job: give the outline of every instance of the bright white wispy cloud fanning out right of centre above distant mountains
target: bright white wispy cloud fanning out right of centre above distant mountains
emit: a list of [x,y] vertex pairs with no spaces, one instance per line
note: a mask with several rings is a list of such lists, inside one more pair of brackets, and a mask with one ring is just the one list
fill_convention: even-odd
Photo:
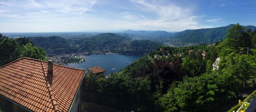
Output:
[[[198,20],[201,16],[193,14],[192,7],[182,7],[175,3],[162,4],[160,2],[148,3],[144,0],[131,0],[137,4],[137,8],[146,14],[153,14],[154,17],[142,15],[144,20],[137,21],[140,25],[151,26],[152,28],[164,28],[168,31],[180,31],[184,28],[200,28]],[[171,26],[171,27],[170,27]]]

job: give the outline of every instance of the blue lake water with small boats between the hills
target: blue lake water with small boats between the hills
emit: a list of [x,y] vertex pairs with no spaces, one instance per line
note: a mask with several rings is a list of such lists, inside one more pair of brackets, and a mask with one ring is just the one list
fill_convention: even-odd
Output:
[[[89,67],[99,66],[106,70],[105,75],[113,72],[116,73],[129,64],[127,62],[134,62],[142,58],[143,55],[122,55],[122,54],[98,54],[85,56],[86,61],[78,63],[76,68],[87,70]],[[131,64],[131,63],[130,63]],[[66,66],[70,66],[67,64]],[[113,70],[111,70],[113,69]],[[88,71],[87,71],[88,72]]]

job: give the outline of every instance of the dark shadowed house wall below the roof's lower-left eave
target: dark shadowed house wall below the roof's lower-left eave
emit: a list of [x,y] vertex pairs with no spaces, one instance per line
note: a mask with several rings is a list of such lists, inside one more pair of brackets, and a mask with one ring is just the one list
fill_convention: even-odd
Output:
[[27,109],[24,109],[20,105],[17,105],[13,103],[12,101],[9,101],[8,99],[4,98],[0,95],[0,108],[3,110],[3,112],[30,112]]

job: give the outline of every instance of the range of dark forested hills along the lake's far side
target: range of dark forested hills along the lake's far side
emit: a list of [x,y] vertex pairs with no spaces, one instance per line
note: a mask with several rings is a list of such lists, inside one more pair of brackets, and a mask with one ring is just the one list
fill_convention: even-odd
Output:
[[131,40],[129,36],[113,33],[97,34],[86,38],[64,39],[59,36],[30,37],[36,46],[47,53],[77,53],[98,51],[102,53],[146,54],[162,43],[150,40]]

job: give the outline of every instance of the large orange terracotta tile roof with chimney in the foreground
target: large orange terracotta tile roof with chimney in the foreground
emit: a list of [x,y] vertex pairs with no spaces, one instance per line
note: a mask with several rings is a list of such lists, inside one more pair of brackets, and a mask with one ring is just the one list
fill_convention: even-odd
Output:
[[67,112],[84,70],[53,64],[51,78],[47,67],[47,62],[30,58],[0,67],[0,95],[35,112]]

